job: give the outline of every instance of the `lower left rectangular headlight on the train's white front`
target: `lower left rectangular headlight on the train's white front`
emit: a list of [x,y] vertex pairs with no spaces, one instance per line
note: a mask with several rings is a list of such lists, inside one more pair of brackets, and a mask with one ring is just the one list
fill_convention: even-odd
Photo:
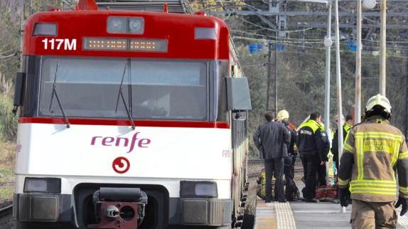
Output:
[[24,193],[61,193],[61,179],[52,177],[26,177]]

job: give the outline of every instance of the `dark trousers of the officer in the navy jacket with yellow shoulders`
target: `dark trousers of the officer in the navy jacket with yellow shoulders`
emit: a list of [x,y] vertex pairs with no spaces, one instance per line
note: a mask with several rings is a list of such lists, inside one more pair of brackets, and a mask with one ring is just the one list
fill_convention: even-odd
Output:
[[306,165],[306,187],[304,188],[304,198],[311,199],[316,195],[316,173],[320,166],[318,156],[306,154],[302,156],[302,161]]

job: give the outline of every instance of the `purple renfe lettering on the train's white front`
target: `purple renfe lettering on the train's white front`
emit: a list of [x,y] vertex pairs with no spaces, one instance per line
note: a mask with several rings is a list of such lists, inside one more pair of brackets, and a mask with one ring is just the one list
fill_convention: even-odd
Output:
[[138,139],[137,138],[138,134],[140,134],[140,132],[136,132],[133,134],[133,137],[131,137],[131,140],[130,140],[130,146],[129,146],[129,139],[127,137],[102,137],[102,136],[92,137],[91,145],[95,146],[95,144],[102,144],[102,146],[104,147],[128,147],[129,146],[129,151],[127,151],[127,153],[130,153],[131,151],[133,151],[134,147],[136,146],[136,140],[137,140],[137,147],[139,148],[149,147],[151,140],[150,139]]

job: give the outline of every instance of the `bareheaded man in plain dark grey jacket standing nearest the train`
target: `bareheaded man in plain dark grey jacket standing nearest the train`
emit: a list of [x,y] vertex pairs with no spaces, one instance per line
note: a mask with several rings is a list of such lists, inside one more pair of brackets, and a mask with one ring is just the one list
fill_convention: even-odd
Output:
[[287,146],[290,144],[291,134],[279,122],[272,122],[274,113],[265,114],[267,122],[260,125],[254,134],[254,144],[259,150],[265,164],[265,202],[272,201],[272,175],[275,177],[275,201],[285,202],[284,198],[284,158],[288,156]]

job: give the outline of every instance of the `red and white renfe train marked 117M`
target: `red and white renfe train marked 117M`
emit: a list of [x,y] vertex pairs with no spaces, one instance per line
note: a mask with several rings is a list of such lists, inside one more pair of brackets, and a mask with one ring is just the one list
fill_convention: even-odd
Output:
[[220,18],[81,0],[24,33],[17,228],[238,225],[251,105]]

